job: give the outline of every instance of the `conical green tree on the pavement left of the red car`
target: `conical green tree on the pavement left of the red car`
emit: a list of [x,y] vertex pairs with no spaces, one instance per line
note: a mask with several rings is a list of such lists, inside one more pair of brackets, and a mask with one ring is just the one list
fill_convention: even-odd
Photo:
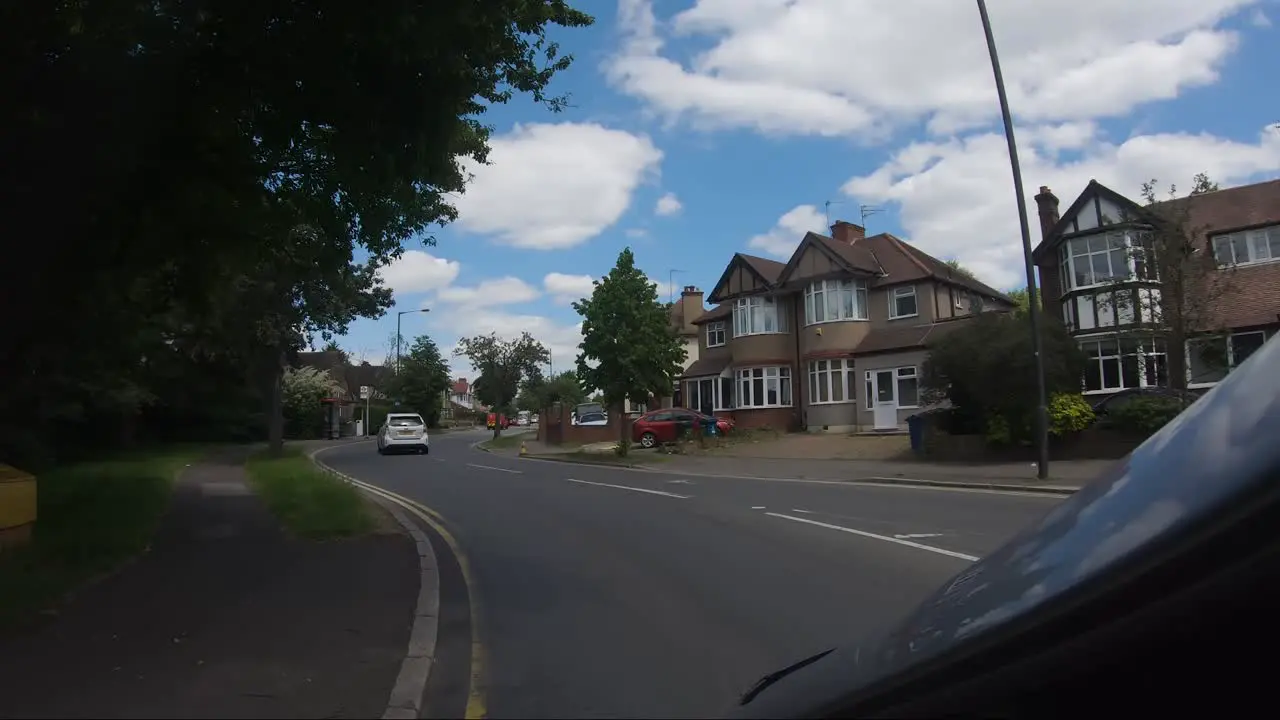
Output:
[[[636,268],[630,247],[618,254],[609,274],[595,282],[591,297],[573,302],[573,310],[582,316],[577,375],[586,388],[603,392],[618,410],[625,400],[645,404],[653,395],[671,393],[685,348],[658,299],[658,286]],[[631,428],[621,413],[618,416],[618,452],[626,455]]]

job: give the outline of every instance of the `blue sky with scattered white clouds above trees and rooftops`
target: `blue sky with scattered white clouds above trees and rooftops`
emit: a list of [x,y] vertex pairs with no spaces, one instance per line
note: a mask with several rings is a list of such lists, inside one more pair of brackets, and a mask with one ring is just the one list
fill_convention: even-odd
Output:
[[[1028,199],[1091,179],[1137,193],[1280,176],[1277,0],[989,0]],[[630,246],[668,296],[707,292],[733,252],[786,259],[831,219],[892,232],[1020,287],[1016,208],[972,3],[579,0],[588,29],[554,83],[572,106],[494,108],[492,163],[435,246],[388,268],[397,307],[339,343],[379,363],[403,334],[527,329],[557,369],[576,354],[570,301]],[[1032,210],[1034,218],[1034,209]],[[1033,240],[1037,233],[1033,231]],[[471,375],[466,361],[458,374]]]

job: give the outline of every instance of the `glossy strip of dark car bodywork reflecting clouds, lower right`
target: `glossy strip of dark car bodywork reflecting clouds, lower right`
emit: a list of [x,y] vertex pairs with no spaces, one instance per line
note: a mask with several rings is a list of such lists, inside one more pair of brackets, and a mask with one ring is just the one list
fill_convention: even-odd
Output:
[[[765,678],[767,687],[753,688],[732,716],[820,716],[858,688],[959,650],[1103,574],[1126,571],[1160,541],[1242,501],[1268,482],[1270,468],[1280,466],[1275,368],[1280,342],[1271,341],[1128,457],[938,588],[897,626]],[[808,698],[809,706],[797,707],[797,698]]]

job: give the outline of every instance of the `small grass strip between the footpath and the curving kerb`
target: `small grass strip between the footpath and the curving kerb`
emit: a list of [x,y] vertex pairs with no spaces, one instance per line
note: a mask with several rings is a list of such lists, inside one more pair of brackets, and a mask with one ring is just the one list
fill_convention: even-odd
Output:
[[360,491],[316,468],[301,450],[285,447],[280,457],[257,454],[247,469],[259,497],[294,536],[328,539],[374,528]]

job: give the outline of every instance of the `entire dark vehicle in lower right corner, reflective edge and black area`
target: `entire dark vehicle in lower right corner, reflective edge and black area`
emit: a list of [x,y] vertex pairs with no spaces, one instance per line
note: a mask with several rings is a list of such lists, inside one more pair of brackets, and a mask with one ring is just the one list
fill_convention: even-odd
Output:
[[[733,717],[1231,716],[1275,702],[1280,342],[879,638]],[[832,568],[838,573],[838,568]]]

